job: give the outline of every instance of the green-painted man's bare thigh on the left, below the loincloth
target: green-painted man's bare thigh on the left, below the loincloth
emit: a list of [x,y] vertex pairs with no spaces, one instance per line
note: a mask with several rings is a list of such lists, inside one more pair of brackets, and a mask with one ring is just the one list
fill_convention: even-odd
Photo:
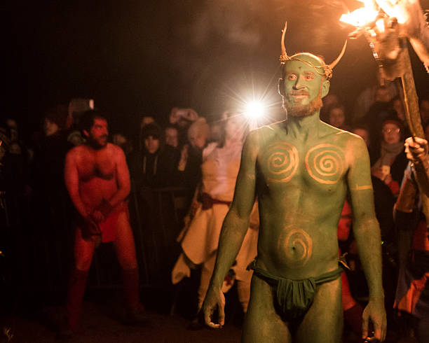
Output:
[[250,302],[245,315],[242,343],[292,342],[287,323],[282,321],[273,306],[273,290],[268,283],[252,277]]

